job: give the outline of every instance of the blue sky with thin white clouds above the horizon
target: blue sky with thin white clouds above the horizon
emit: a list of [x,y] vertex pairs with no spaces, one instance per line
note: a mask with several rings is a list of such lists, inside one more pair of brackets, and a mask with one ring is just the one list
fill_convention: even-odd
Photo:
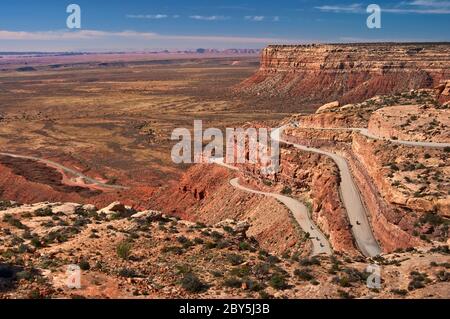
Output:
[[[80,30],[66,26],[81,7]],[[382,8],[369,29],[366,7]],[[260,48],[271,43],[450,41],[450,1],[2,0],[0,51]]]

